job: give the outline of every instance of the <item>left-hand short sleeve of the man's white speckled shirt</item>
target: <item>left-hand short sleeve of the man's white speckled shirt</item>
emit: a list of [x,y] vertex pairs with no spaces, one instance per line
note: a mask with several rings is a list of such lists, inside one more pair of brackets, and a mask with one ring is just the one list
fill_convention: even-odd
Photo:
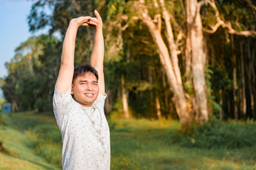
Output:
[[63,119],[65,117],[65,108],[68,106],[69,103],[71,103],[72,96],[70,94],[71,87],[68,89],[68,91],[65,92],[65,94],[61,94],[58,89],[54,90],[53,94],[53,112],[57,121],[57,124],[60,127],[62,127]]

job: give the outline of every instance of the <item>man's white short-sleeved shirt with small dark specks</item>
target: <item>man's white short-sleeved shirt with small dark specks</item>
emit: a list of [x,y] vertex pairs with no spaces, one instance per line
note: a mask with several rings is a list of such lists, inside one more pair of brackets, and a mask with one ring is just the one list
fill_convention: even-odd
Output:
[[92,107],[84,107],[56,88],[53,111],[63,140],[63,169],[110,169],[110,129],[104,113],[107,95],[99,93]]

